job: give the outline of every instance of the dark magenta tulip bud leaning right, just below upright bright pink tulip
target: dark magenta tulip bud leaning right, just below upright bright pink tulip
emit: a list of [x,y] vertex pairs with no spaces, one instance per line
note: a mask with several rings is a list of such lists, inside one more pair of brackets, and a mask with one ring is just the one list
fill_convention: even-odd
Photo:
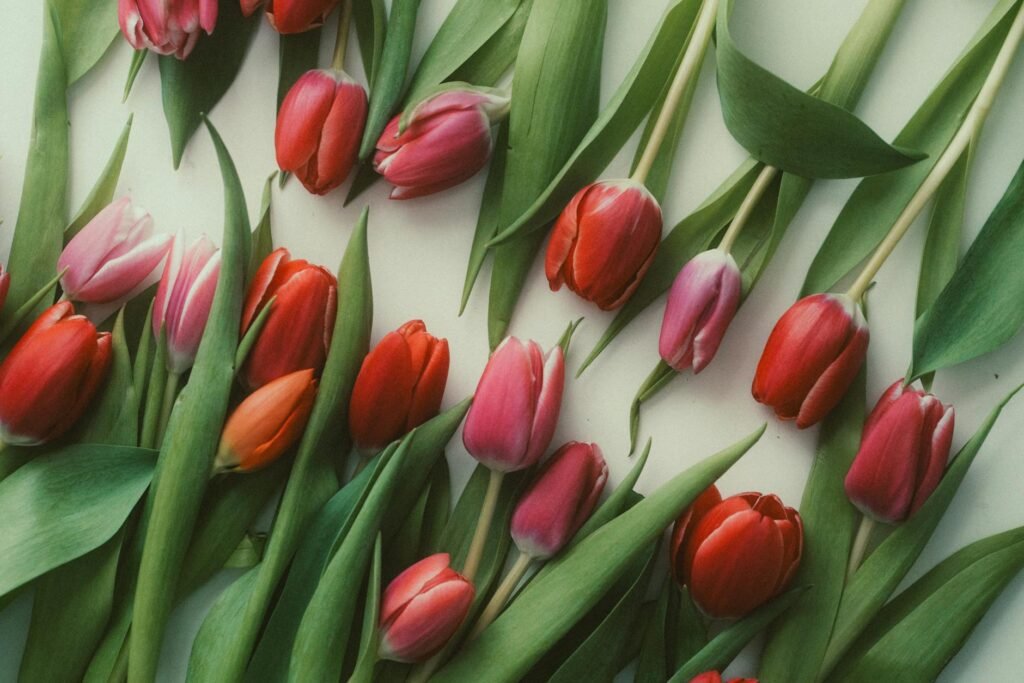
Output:
[[535,559],[556,555],[590,517],[607,480],[608,466],[596,443],[560,447],[512,514],[516,547]]

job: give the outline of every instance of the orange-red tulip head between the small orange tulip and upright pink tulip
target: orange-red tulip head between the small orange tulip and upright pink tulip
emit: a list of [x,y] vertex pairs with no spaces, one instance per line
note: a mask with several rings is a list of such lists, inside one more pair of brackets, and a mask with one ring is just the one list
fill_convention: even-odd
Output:
[[437,415],[447,383],[446,339],[422,321],[390,332],[362,360],[349,401],[349,432],[364,451],[379,451]]

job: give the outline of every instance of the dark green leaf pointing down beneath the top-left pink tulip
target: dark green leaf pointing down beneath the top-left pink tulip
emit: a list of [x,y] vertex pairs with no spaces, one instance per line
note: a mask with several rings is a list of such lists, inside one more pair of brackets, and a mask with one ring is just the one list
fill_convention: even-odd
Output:
[[254,12],[245,17],[238,2],[219,0],[217,31],[201,35],[187,59],[160,56],[164,118],[175,169],[181,165],[185,146],[203,117],[213,111],[239,75],[261,15]]

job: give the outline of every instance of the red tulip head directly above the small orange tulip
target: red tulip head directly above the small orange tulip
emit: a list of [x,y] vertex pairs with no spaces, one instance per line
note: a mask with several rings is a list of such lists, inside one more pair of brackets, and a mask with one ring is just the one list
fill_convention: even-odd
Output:
[[297,370],[319,375],[338,311],[338,280],[323,266],[292,259],[282,247],[253,276],[242,310],[243,334],[270,299],[273,305],[242,369],[249,390]]

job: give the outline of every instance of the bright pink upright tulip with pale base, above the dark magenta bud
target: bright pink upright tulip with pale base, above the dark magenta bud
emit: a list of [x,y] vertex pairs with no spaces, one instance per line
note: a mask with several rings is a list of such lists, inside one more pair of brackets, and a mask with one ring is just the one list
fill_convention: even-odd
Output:
[[499,472],[530,467],[551,443],[564,384],[560,347],[545,357],[537,342],[507,337],[476,385],[462,432],[466,450]]

